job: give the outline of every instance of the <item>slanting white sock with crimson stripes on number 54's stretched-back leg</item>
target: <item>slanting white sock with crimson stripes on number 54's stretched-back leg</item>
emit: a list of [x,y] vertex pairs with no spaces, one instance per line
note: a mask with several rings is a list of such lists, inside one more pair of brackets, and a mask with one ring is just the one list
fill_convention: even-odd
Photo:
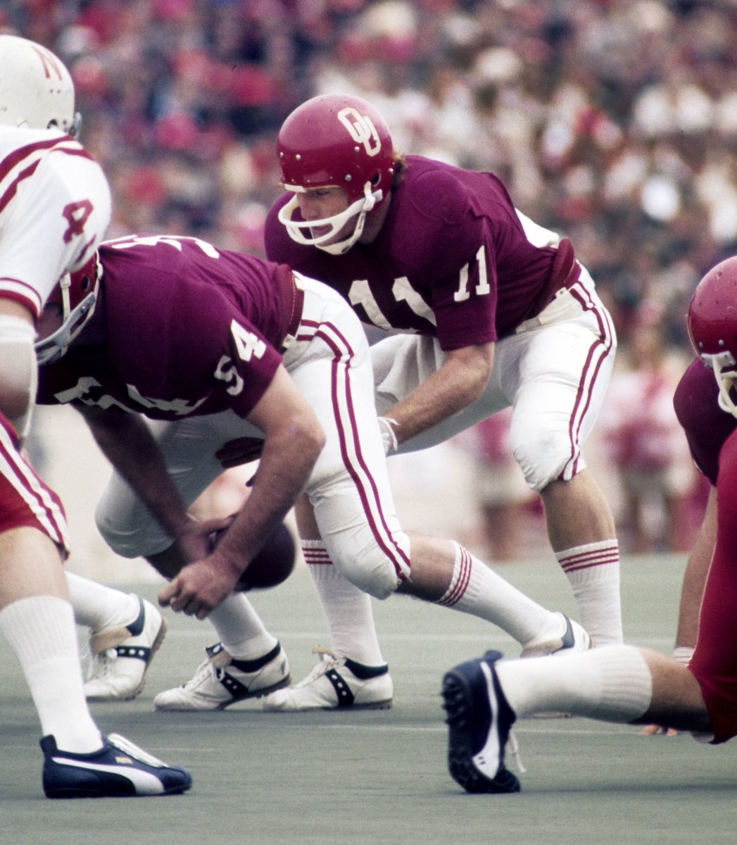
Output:
[[563,634],[565,620],[560,613],[533,602],[457,542],[453,548],[453,577],[437,604],[486,619],[523,647]]

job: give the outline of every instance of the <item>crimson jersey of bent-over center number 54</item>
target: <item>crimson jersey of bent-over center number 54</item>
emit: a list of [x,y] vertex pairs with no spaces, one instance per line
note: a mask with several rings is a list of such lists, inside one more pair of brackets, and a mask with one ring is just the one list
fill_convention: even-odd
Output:
[[38,401],[119,406],[154,419],[245,417],[281,363],[286,267],[186,237],[103,243],[101,300],[79,341],[41,368]]

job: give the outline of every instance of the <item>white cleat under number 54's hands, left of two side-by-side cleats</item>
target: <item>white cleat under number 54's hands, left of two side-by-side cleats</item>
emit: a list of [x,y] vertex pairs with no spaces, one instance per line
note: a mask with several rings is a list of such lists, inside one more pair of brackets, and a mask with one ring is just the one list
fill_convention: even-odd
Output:
[[192,679],[156,695],[156,710],[224,710],[236,701],[279,690],[291,680],[287,655],[278,642],[268,654],[253,660],[232,657],[221,643],[206,648],[205,654],[207,659]]

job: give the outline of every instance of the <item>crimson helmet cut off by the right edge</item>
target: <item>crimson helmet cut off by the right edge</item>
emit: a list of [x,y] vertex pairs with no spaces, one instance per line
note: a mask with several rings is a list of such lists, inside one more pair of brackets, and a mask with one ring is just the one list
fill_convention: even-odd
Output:
[[737,379],[737,258],[726,259],[699,282],[688,308],[691,344],[719,385],[719,406],[737,417],[731,389]]

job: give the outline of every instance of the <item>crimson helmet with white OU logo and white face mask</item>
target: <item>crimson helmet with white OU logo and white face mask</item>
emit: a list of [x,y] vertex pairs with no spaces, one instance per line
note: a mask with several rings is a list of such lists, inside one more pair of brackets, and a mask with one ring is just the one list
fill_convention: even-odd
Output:
[[[325,94],[298,106],[284,121],[276,139],[281,182],[287,191],[303,194],[310,188],[344,188],[348,208],[317,221],[292,219],[298,208],[293,197],[279,212],[292,240],[340,255],[363,232],[369,211],[389,195],[394,176],[394,148],[384,118],[369,102],[347,94]],[[326,244],[352,217],[353,231],[339,243]],[[330,226],[312,237],[313,226]]]

